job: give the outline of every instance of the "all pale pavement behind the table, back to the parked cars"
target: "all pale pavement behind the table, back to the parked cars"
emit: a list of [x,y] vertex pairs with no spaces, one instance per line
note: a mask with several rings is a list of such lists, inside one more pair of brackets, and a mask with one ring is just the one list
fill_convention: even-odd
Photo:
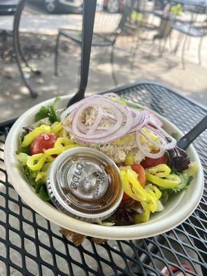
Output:
[[[110,14],[106,14],[111,25]],[[119,14],[113,17],[113,23],[119,20]],[[98,21],[98,19],[97,19]],[[95,24],[97,30],[98,24]],[[24,38],[23,42],[27,48],[37,47],[50,34],[48,52],[40,59],[32,60],[34,66],[41,70],[40,77],[32,77],[27,74],[32,88],[39,92],[37,99],[31,99],[28,90],[23,86],[16,64],[0,61],[0,121],[17,117],[25,110],[45,99],[59,95],[73,94],[77,90],[78,66],[80,49],[72,45],[70,41],[62,41],[59,57],[60,77],[54,76],[54,55],[55,38],[58,28],[81,28],[81,15],[79,14],[31,14],[30,10],[24,12],[21,21],[21,32],[30,33],[30,37]],[[0,29],[11,30],[12,17],[3,17],[0,22]],[[35,45],[35,37],[43,35],[42,41]],[[44,33],[44,34],[43,34]],[[47,34],[47,35],[46,35]],[[51,38],[52,37],[52,38]],[[177,33],[173,32],[172,44],[175,43]],[[114,70],[118,86],[143,79],[161,81],[180,90],[188,97],[196,99],[207,105],[207,38],[203,41],[201,52],[202,64],[199,66],[197,60],[198,40],[190,40],[190,49],[186,52],[186,69],[181,68],[181,52],[177,55],[170,53],[168,47],[162,56],[157,52],[156,43],[150,41],[139,41],[139,47],[135,58],[132,60],[132,37],[120,37],[115,48]],[[168,43],[167,43],[168,46]],[[47,44],[46,44],[47,47]],[[111,77],[110,52],[103,49],[92,49],[90,73],[88,81],[88,93],[102,92],[115,88]]]

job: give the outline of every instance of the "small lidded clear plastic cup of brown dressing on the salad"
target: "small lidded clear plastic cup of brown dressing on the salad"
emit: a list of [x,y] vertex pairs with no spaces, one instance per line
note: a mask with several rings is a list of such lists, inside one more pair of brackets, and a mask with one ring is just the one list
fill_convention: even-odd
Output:
[[123,197],[119,168],[92,148],[72,148],[53,162],[47,183],[57,208],[86,221],[106,219]]

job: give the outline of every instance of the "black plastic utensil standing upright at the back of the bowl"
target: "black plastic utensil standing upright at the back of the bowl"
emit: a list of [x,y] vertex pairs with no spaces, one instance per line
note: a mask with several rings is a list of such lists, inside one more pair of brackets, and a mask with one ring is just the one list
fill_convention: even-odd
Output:
[[92,46],[92,33],[95,21],[95,10],[97,0],[83,1],[83,22],[82,22],[82,46],[81,46],[81,80],[78,92],[70,99],[68,106],[84,98],[88,83],[88,70],[90,64],[90,51]]

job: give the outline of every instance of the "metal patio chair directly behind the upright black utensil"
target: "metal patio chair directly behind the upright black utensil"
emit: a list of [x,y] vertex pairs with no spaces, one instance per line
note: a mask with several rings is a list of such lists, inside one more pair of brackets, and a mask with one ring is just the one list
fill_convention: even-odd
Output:
[[[117,37],[124,28],[124,23],[128,17],[130,8],[125,7],[122,14],[120,14],[119,20],[117,21],[117,26],[112,22],[110,30],[106,30],[108,26],[108,21],[115,19],[119,16],[118,14],[108,14],[106,12],[96,12],[95,17],[95,32],[93,33],[92,38],[92,47],[110,47],[110,63],[112,66],[112,79],[117,85],[115,78],[115,73],[113,71],[113,61],[114,61],[114,47]],[[70,39],[73,43],[77,43],[78,46],[81,46],[81,31],[80,30],[70,30],[70,29],[59,29],[57,35],[57,42],[55,46],[55,75],[58,76],[58,57],[59,57],[59,42],[61,37],[66,37]]]

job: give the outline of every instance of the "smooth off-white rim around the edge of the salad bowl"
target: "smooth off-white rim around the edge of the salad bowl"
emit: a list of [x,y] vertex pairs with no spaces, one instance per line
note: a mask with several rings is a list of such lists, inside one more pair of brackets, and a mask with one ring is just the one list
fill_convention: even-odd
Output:
[[[159,221],[159,224],[157,224],[157,222],[155,221],[155,224],[150,225],[150,227],[146,227],[148,222],[131,226],[100,226],[98,224],[92,224],[78,219],[74,219],[66,214],[61,213],[61,211],[57,208],[41,200],[38,197],[38,195],[35,194],[34,189],[28,183],[26,177],[23,176],[23,173],[20,169],[14,152],[17,150],[17,148],[15,148],[15,145],[17,145],[19,132],[22,128],[22,124],[23,121],[25,121],[25,118],[29,115],[34,115],[34,112],[37,112],[37,110],[41,106],[48,105],[48,103],[51,103],[52,101],[54,101],[54,99],[49,99],[41,103],[38,103],[36,106],[33,106],[32,108],[24,112],[23,115],[21,115],[21,117],[17,119],[17,121],[10,129],[5,143],[4,160],[10,182],[12,183],[12,186],[17,191],[17,193],[20,195],[21,199],[23,199],[23,201],[25,201],[26,204],[28,204],[28,206],[30,206],[30,208],[32,208],[36,213],[42,215],[49,221],[52,221],[53,223],[63,228],[72,230],[82,235],[88,235],[90,237],[99,237],[102,239],[118,240],[143,239],[146,237],[152,237],[155,235],[159,235],[161,233],[165,233],[168,230],[175,228],[183,221],[185,221],[197,208],[204,190],[204,172],[197,152],[195,151],[195,148],[192,145],[190,145],[189,150],[190,155],[193,155],[194,161],[196,161],[198,164],[197,185],[199,184],[199,188],[196,189],[197,193],[194,194],[193,201],[191,202],[190,206],[188,205],[188,208],[181,208],[179,210],[179,214],[177,214],[177,216],[174,216],[173,219],[171,216],[166,216],[164,217],[164,219],[161,219],[161,221]],[[61,97],[61,101],[65,101],[66,99],[70,99],[70,96]],[[139,108],[150,110],[149,108],[141,106],[137,103],[133,103],[133,105]],[[153,110],[150,111],[154,112]],[[181,130],[179,130],[177,126],[168,121],[168,119],[157,114],[157,112],[154,113],[157,115],[157,117],[159,117],[159,119],[164,121],[164,123],[168,124],[170,128],[174,128],[179,133],[179,135],[183,135],[183,132],[181,132]],[[31,193],[32,190],[33,193]],[[185,190],[181,192],[183,196],[185,192]]]

